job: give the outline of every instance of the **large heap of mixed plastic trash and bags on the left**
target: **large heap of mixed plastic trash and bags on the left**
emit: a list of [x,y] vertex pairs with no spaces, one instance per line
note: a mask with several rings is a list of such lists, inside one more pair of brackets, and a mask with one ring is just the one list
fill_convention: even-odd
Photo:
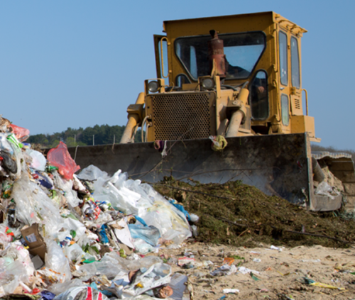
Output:
[[198,217],[120,170],[75,175],[64,143],[46,159],[28,134],[1,118],[0,297],[171,296],[171,266],[146,254],[178,248]]

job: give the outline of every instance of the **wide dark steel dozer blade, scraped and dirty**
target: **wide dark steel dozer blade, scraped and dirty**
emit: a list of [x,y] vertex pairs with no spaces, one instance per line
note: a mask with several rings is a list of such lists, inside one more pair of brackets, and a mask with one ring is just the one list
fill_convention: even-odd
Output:
[[121,169],[132,179],[159,182],[165,176],[201,183],[241,180],[293,204],[312,208],[313,182],[307,134],[258,135],[227,138],[224,150],[212,150],[212,141],[171,140],[167,155],[154,143],[97,145],[69,148],[83,169],[95,165],[109,174]]

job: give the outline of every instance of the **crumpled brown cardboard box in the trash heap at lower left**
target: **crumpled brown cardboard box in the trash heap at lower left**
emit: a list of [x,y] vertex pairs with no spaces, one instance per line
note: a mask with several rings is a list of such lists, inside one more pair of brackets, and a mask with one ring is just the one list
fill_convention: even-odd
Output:
[[31,227],[23,228],[21,234],[30,248],[29,251],[31,255],[38,255],[44,262],[47,245],[45,245],[45,242],[38,231],[38,223],[32,224]]

